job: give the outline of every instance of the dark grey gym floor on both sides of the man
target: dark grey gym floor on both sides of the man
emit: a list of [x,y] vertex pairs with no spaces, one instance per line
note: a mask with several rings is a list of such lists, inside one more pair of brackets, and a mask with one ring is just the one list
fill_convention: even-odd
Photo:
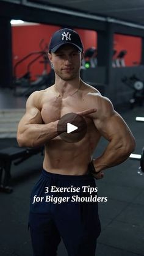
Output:
[[[3,93],[3,96],[2,96]],[[0,92],[0,98],[9,94]],[[24,108],[25,98],[1,100],[0,108]],[[2,103],[3,102],[3,103]],[[135,136],[137,146],[134,153],[141,153],[143,122],[135,122],[136,116],[143,116],[144,107],[123,109],[120,114]],[[17,145],[16,139],[1,139],[0,149]],[[101,139],[94,158],[103,152],[107,142]],[[31,237],[27,231],[29,198],[31,189],[41,172],[43,156],[32,156],[19,166],[12,164],[12,194],[0,193],[1,211],[1,256],[32,256]],[[98,196],[108,197],[99,203],[99,217],[102,232],[98,238],[96,256],[144,256],[144,174],[137,174],[139,161],[126,160],[119,166],[107,169],[104,178],[96,181]],[[59,256],[68,256],[60,243]]]

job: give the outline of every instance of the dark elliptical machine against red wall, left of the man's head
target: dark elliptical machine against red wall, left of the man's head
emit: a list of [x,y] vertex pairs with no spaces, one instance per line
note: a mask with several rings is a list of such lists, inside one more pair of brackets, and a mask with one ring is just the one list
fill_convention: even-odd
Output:
[[[41,40],[39,46],[41,51],[35,51],[32,53],[27,54],[27,56],[23,57],[23,59],[19,60],[14,67],[13,73],[13,87],[15,89],[16,96],[29,96],[35,90],[45,89],[46,87],[50,86],[54,82],[54,71],[51,70],[49,73],[47,72],[47,65],[49,64],[48,59],[48,45],[46,44],[45,47],[42,47],[43,40]],[[16,77],[17,67],[23,63],[24,60],[28,59],[31,56],[36,56],[34,59],[29,62],[27,65],[27,72],[21,78]],[[40,63],[44,64],[43,73],[38,76],[36,81],[31,81],[31,67],[32,65],[43,57],[43,60]]]

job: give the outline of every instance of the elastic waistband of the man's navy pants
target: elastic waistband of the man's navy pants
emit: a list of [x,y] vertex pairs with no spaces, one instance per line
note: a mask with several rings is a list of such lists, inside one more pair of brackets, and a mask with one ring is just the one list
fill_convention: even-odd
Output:
[[63,174],[54,174],[52,172],[47,172],[46,170],[42,170],[42,176],[45,178],[57,178],[62,180],[87,180],[88,178],[92,178],[92,174],[88,173],[85,175],[63,175]]

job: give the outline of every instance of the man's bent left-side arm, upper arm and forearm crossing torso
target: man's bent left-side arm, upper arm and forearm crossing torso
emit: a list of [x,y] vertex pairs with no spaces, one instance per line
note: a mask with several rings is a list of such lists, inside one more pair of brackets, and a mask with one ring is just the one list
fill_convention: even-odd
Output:
[[43,124],[41,113],[38,109],[38,93],[32,93],[27,99],[26,114],[18,124],[16,138],[20,147],[40,147],[59,135],[57,132],[59,120]]

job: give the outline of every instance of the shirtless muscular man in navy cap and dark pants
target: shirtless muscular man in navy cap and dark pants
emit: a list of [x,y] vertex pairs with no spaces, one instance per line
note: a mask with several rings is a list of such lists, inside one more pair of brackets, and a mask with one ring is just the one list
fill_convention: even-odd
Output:
[[[70,198],[76,194],[88,197],[88,192],[76,192],[76,189],[96,188],[95,178],[103,178],[103,170],[125,161],[134,151],[135,140],[110,100],[80,78],[84,50],[75,31],[55,32],[48,55],[56,76],[55,84],[30,95],[17,133],[20,147],[45,145],[43,171],[32,189],[30,203],[29,227],[34,256],[56,256],[61,238],[69,256],[95,256],[96,239],[101,231],[97,202],[54,203],[43,198]],[[67,133],[64,122],[57,131],[59,120],[71,112],[81,115],[87,123],[87,133],[74,143],[60,137]],[[80,131],[75,131],[78,138],[82,124],[71,117],[66,121],[80,126]],[[101,136],[109,144],[103,154],[93,160]],[[60,192],[59,189],[51,192],[52,186],[75,188],[75,192]],[[41,201],[34,202],[36,197]]]

